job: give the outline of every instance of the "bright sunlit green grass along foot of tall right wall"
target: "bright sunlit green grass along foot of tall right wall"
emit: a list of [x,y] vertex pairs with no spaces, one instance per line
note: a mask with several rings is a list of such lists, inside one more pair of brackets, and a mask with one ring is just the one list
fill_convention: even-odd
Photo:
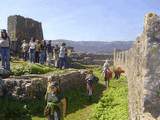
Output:
[[94,108],[88,120],[128,120],[128,88],[124,76],[112,80],[109,90]]

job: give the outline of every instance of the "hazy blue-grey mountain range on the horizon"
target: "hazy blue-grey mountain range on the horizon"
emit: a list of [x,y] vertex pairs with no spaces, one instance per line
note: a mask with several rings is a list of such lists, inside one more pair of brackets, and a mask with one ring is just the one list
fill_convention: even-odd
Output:
[[131,48],[133,41],[71,41],[71,40],[52,40],[52,43],[60,44],[65,42],[67,46],[74,47],[76,52],[94,53],[94,54],[108,54],[112,53],[114,49],[127,50]]

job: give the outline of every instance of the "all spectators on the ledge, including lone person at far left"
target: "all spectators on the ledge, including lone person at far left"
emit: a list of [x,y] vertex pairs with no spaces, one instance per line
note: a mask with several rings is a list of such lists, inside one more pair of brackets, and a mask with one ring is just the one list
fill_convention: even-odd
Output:
[[[10,71],[10,38],[5,29],[1,30],[0,34],[0,57],[2,61],[2,68]],[[60,46],[52,46],[51,41],[37,40],[31,38],[28,43],[23,40],[21,45],[23,60],[29,60],[31,63],[40,63],[51,65],[54,59],[54,66],[60,69],[68,67],[67,64],[67,48],[66,44],[62,43]]]

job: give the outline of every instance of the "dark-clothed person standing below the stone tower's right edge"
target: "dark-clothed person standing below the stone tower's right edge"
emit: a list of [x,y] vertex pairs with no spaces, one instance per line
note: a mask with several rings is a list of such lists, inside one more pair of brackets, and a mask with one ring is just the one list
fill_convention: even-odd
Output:
[[46,44],[45,41],[43,40],[40,49],[40,58],[39,58],[40,64],[44,64],[46,61],[45,59],[46,59]]

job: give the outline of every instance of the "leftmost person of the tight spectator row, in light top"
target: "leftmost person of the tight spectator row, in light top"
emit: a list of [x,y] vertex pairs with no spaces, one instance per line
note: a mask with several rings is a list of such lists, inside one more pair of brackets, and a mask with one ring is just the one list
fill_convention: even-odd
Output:
[[22,48],[23,60],[27,61],[29,44],[26,42],[26,40],[23,40],[23,44],[22,44],[21,48]]

